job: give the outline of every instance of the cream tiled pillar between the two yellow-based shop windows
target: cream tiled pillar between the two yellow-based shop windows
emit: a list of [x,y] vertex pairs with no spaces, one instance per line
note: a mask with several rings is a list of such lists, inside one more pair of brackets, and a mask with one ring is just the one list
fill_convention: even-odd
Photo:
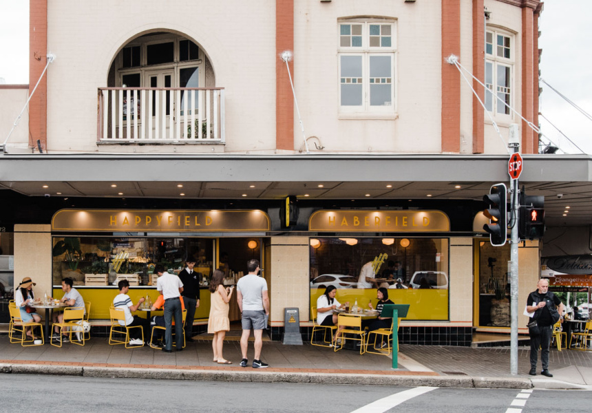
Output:
[[308,321],[310,308],[308,237],[271,237],[271,322],[284,326],[284,308],[299,308],[300,322]]

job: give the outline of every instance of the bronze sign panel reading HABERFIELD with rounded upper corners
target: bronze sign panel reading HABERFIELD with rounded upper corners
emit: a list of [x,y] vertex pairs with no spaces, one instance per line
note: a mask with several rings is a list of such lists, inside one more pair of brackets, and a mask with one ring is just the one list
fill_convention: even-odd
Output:
[[309,231],[433,232],[450,231],[442,211],[321,210],[310,215]]

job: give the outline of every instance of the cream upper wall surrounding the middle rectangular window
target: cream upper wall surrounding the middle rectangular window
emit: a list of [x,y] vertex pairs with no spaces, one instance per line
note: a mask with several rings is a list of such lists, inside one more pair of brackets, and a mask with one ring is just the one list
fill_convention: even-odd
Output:
[[[441,151],[441,2],[403,0],[297,2],[295,88],[306,136],[325,152]],[[397,20],[397,118],[339,116],[338,19],[373,16]],[[295,149],[302,131],[295,116]]]

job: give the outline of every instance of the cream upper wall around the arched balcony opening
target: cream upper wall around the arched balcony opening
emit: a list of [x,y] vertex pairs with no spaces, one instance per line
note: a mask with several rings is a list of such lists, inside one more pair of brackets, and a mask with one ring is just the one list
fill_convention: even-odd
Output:
[[97,150],[97,88],[107,86],[120,48],[155,30],[188,36],[209,56],[226,93],[226,151],[275,148],[274,0],[61,0],[47,7],[47,47],[56,55],[47,73],[50,151]]

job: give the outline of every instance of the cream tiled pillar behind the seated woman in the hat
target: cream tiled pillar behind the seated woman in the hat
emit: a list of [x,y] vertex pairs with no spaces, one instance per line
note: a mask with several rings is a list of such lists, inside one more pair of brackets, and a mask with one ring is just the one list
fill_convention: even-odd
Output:
[[14,288],[24,277],[36,283],[36,298],[52,293],[51,225],[14,225]]

